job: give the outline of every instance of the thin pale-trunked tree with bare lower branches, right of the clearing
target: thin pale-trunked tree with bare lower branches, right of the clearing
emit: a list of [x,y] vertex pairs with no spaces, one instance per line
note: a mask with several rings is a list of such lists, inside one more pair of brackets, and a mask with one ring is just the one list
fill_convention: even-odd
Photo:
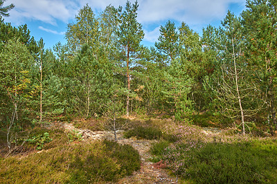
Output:
[[225,116],[241,122],[244,135],[247,120],[262,108],[260,90],[251,79],[253,73],[244,57],[245,39],[240,17],[229,11],[222,26],[214,37],[219,63],[215,71],[217,76],[211,76],[210,86],[215,91],[217,107]]

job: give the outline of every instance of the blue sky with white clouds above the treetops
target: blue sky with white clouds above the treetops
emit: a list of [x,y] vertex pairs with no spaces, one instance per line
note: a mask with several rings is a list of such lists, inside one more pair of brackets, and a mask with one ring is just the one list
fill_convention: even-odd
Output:
[[[143,44],[152,46],[159,37],[159,27],[166,21],[174,21],[177,26],[184,21],[200,35],[202,28],[211,24],[219,26],[226,12],[231,10],[239,15],[245,8],[246,0],[138,0],[138,21],[143,25]],[[134,2],[134,0],[131,0]],[[64,44],[67,24],[74,21],[78,10],[86,3],[94,12],[100,12],[111,4],[125,6],[126,0],[8,0],[15,4],[6,22],[12,26],[27,24],[30,34],[44,39],[46,48],[57,42]]]

